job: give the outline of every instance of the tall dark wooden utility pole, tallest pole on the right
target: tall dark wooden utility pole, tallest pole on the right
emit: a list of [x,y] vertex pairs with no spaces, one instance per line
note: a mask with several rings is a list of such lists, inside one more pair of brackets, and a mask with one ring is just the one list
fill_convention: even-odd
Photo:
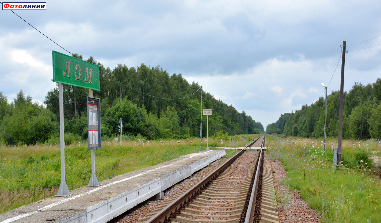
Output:
[[341,59],[341,81],[340,81],[340,108],[339,108],[339,135],[337,148],[337,162],[341,162],[341,140],[343,136],[343,106],[344,106],[344,64],[345,64],[345,45],[343,41],[343,58]]

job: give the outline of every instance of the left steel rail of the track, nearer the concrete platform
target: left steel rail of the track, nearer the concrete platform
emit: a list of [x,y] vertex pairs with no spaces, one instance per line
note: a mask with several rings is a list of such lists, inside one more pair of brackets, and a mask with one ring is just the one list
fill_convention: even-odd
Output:
[[[261,137],[254,139],[253,142],[251,142],[245,148],[253,145]],[[196,196],[199,196],[219,175],[224,172],[224,170],[227,169],[227,167],[229,167],[235,161],[235,159],[242,155],[242,153],[245,151],[245,148],[229,158],[223,165],[211,172],[202,181],[194,185],[176,200],[172,201],[165,208],[152,216],[149,220],[146,221],[146,223],[170,223],[172,221],[171,219],[176,218],[176,214],[180,214],[181,210],[184,210],[190,202],[193,202]]]

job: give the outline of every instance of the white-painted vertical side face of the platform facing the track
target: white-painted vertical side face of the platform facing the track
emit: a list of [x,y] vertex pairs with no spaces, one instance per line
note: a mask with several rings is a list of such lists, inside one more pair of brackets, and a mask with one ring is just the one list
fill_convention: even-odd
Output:
[[[122,213],[130,210],[143,201],[153,197],[161,191],[191,176],[197,170],[208,166],[211,162],[226,155],[225,150],[200,159],[199,161],[178,169],[163,177],[139,185],[106,201],[88,207],[83,212],[56,221],[57,223],[106,223]],[[93,216],[91,216],[93,215]]]

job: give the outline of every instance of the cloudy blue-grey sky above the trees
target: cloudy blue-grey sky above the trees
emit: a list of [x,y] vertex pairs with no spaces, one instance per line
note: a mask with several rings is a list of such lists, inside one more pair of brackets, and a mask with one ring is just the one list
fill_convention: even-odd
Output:
[[[376,0],[48,1],[15,10],[72,53],[106,67],[160,65],[205,84],[266,128],[323,96],[347,50],[381,43]],[[51,51],[66,53],[10,10],[0,12],[0,91],[42,103],[56,85]],[[373,38],[376,37],[376,38]],[[358,43],[364,40],[363,43]],[[344,89],[381,77],[381,45],[348,51]],[[339,90],[341,61],[328,86]]]

